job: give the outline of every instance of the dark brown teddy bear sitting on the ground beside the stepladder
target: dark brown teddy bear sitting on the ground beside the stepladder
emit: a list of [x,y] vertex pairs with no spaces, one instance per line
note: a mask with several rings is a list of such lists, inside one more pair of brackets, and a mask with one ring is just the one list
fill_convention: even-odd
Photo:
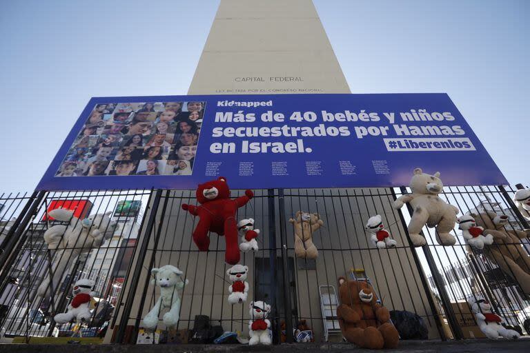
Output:
[[347,341],[372,350],[397,347],[400,335],[389,322],[389,310],[377,303],[369,283],[339,277],[339,296],[337,318]]

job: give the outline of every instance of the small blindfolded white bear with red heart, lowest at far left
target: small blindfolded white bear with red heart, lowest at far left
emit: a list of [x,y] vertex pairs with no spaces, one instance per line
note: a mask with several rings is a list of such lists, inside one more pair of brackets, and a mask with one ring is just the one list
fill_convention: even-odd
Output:
[[74,284],[74,289],[72,290],[74,299],[68,305],[68,311],[55,315],[53,317],[55,322],[59,323],[59,325],[69,323],[72,320],[78,323],[86,323],[90,319],[90,301],[95,296],[95,292],[92,292],[94,285],[95,282],[90,281],[90,279],[79,279]]

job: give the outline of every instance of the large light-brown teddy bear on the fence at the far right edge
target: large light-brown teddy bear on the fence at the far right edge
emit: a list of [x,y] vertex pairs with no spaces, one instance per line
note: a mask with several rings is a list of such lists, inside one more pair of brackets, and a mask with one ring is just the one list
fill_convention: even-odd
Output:
[[513,277],[524,294],[530,294],[530,256],[520,241],[530,235],[530,230],[505,230],[508,216],[491,211],[471,216],[477,225],[484,228],[484,234],[493,236],[493,244],[484,247],[487,259]]

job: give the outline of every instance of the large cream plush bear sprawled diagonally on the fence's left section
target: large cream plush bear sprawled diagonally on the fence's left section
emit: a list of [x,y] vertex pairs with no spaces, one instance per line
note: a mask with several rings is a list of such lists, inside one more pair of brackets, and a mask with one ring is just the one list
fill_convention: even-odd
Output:
[[[110,220],[112,211],[106,214],[92,214],[86,219],[78,219],[74,211],[58,208],[48,213],[57,221],[69,222],[68,225],[53,225],[44,232],[44,241],[48,250],[55,250],[51,264],[53,273],[53,290],[61,281],[65,270],[75,261],[79,254],[99,248],[106,239],[112,238],[117,223]],[[50,289],[50,276],[46,274],[37,289],[37,295],[46,296]]]

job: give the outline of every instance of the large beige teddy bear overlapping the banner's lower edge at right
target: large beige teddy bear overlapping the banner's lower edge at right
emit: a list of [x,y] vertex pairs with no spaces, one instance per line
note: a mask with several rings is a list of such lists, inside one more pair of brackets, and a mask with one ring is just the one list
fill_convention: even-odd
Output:
[[454,245],[456,239],[449,232],[455,228],[456,215],[460,211],[438,196],[444,189],[444,184],[440,180],[440,172],[435,172],[434,175],[424,174],[420,168],[416,168],[410,187],[412,194],[397,198],[393,208],[399,210],[404,203],[408,202],[414,209],[409,222],[409,235],[412,243],[415,246],[427,243],[420,235],[424,225],[427,225],[429,228],[436,227],[436,240],[440,245]]

